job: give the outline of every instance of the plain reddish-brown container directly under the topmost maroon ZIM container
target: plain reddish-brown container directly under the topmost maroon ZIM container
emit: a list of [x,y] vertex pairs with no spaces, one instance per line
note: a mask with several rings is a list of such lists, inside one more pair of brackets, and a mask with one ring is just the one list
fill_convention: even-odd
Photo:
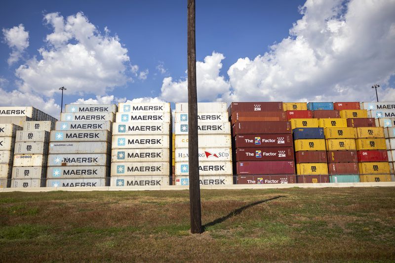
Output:
[[284,112],[234,112],[231,122],[237,121],[286,121]]

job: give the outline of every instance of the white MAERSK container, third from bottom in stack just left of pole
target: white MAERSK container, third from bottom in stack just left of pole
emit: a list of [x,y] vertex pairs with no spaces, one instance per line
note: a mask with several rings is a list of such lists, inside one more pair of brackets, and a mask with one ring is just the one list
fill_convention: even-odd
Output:
[[168,162],[169,149],[113,149],[112,162]]

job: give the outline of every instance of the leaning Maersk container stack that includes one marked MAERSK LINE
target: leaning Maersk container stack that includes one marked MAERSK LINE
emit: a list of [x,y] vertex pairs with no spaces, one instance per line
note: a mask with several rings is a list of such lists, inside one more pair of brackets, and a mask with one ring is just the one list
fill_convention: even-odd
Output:
[[109,185],[116,105],[66,105],[50,133],[47,187]]

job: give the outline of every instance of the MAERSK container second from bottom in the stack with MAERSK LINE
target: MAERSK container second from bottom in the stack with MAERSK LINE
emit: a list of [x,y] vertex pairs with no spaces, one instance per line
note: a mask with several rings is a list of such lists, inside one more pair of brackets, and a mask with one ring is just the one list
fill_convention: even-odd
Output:
[[46,178],[106,178],[110,177],[108,166],[48,166]]

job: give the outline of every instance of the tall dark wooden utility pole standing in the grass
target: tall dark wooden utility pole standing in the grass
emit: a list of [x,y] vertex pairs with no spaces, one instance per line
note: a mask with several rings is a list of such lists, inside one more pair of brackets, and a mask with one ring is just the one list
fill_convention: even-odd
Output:
[[188,154],[191,233],[201,233],[199,156],[197,146],[197,90],[195,0],[188,0]]

